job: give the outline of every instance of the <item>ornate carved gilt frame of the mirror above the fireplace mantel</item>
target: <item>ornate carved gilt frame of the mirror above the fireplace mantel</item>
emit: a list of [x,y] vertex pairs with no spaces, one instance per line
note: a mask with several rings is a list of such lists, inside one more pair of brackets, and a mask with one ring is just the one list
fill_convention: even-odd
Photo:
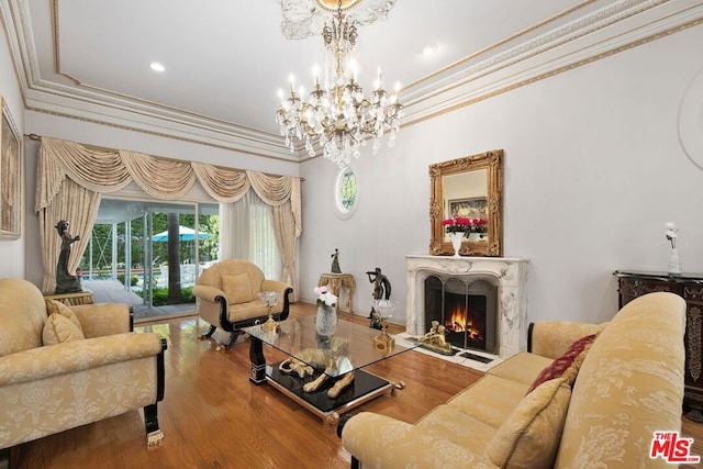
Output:
[[492,149],[478,155],[429,165],[429,254],[434,256],[454,255],[451,243],[445,241],[442,226],[444,221],[444,177],[460,172],[487,170],[488,198],[488,242],[470,242],[464,238],[459,254],[462,256],[503,255],[503,150]]

